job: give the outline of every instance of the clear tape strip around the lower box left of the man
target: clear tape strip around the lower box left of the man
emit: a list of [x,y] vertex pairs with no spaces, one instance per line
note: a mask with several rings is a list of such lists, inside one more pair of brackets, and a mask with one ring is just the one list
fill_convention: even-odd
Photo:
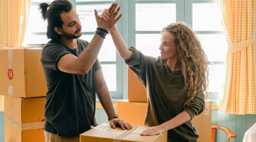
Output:
[[20,124],[18,122],[11,120],[8,117],[5,117],[5,123],[18,128],[21,131],[22,130],[40,129],[40,128],[43,128],[43,126],[44,126],[44,122],[33,122],[33,123]]

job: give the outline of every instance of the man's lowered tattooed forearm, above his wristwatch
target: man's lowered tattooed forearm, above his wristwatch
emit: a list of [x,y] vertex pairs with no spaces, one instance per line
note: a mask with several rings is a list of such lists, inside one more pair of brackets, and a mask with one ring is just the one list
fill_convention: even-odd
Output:
[[102,85],[97,91],[98,99],[108,116],[115,113],[107,85]]

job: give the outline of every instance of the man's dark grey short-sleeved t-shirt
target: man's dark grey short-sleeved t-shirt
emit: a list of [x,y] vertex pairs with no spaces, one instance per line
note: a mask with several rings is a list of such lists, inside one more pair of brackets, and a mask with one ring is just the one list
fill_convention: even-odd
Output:
[[71,49],[58,41],[49,41],[43,48],[41,63],[46,83],[44,130],[63,137],[78,137],[96,126],[95,71],[100,69],[98,59],[87,74],[69,74],[57,68],[59,59],[66,54],[79,56],[89,44],[77,39],[77,49]]

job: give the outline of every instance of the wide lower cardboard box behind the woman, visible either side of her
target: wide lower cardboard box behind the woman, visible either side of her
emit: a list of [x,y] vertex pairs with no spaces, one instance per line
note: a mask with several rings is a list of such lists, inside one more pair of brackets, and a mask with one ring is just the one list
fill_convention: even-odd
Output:
[[[211,102],[207,102],[211,106]],[[210,107],[211,108],[211,107]],[[147,112],[147,103],[128,102],[128,100],[117,101],[117,115],[131,125],[144,126],[144,119]],[[193,126],[199,133],[199,142],[211,141],[212,135],[212,114],[211,109],[206,114],[203,112],[199,116],[195,116],[192,120]]]

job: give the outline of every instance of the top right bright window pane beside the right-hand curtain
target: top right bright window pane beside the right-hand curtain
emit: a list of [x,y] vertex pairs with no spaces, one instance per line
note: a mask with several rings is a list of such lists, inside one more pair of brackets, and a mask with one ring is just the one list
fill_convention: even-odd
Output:
[[194,3],[192,13],[195,31],[223,30],[221,11],[216,3]]

